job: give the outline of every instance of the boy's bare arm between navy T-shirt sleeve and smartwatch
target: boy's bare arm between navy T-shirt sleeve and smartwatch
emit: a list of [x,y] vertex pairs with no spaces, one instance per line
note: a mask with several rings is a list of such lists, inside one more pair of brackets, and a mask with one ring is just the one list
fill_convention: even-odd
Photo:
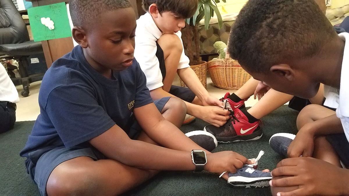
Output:
[[117,125],[93,138],[90,143],[106,157],[132,167],[151,170],[194,170],[195,168],[190,152],[131,140]]

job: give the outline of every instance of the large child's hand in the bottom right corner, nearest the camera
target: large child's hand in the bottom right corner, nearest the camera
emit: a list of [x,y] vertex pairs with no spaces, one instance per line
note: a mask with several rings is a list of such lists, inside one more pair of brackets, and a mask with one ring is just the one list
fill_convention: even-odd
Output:
[[278,196],[295,195],[347,195],[349,170],[311,157],[283,159],[272,171],[270,186],[294,187],[296,190],[278,193]]

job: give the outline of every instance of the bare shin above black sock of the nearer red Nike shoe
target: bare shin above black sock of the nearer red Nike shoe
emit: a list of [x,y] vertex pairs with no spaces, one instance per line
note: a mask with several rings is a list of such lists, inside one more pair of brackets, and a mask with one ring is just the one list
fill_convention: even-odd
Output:
[[254,106],[248,109],[247,112],[254,118],[261,119],[290,101],[292,97],[292,95],[270,89]]

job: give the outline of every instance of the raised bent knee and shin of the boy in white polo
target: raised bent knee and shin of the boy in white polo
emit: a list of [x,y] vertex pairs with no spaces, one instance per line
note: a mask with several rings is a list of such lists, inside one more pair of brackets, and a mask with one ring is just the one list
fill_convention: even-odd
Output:
[[180,56],[183,51],[182,43],[179,37],[175,34],[164,34],[157,43],[164,51],[166,76],[163,78],[162,89],[166,92],[170,91],[174,76],[177,73]]

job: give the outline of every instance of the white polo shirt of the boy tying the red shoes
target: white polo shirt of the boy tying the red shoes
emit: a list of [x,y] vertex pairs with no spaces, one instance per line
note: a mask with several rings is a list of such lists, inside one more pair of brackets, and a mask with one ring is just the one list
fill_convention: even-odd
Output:
[[[175,33],[181,40],[182,33]],[[149,90],[154,90],[163,86],[162,75],[159,67],[159,60],[156,57],[156,41],[162,36],[162,32],[156,26],[153,17],[147,12],[137,20],[136,28],[136,47],[134,56],[141,66],[142,71],[147,77],[147,87]],[[183,42],[182,42],[183,46]],[[189,59],[184,53],[179,60],[178,69],[183,69],[189,66]]]

